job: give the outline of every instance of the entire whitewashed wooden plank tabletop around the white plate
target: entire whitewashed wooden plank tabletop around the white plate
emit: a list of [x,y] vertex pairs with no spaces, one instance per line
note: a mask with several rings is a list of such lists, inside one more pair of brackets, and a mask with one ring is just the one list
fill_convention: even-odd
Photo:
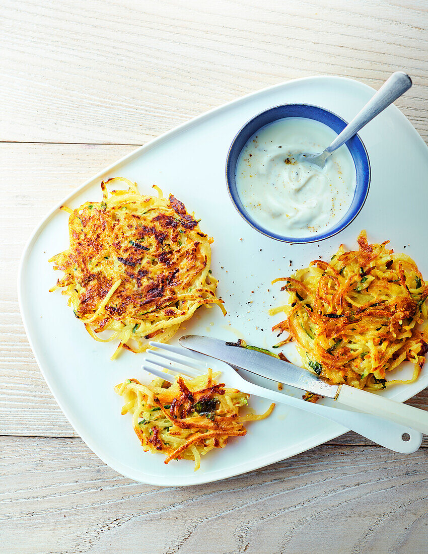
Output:
[[[426,141],[428,1],[3,0],[0,20],[0,550],[426,552],[423,448],[348,433],[220,483],[116,474],[44,382],[16,277],[32,229],[89,176],[268,85],[326,74],[379,88],[404,69],[414,86],[396,105]],[[411,403],[428,408],[427,391]]]

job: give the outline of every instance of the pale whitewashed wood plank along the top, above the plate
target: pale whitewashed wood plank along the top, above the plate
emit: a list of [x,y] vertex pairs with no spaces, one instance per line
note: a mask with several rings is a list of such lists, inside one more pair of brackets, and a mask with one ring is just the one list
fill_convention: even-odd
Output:
[[428,136],[424,1],[4,0],[0,17],[0,140],[140,144],[287,79],[379,88],[396,69]]

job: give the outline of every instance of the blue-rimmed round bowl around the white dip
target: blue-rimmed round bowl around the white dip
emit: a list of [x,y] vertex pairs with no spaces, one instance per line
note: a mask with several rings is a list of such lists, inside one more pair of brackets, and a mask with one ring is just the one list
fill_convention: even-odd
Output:
[[330,127],[334,132],[339,134],[347,126],[347,122],[333,112],[324,110],[322,107],[312,106],[310,104],[284,104],[275,106],[269,110],[262,111],[248,121],[236,134],[233,142],[230,145],[228,157],[226,159],[226,183],[228,186],[229,195],[235,208],[247,223],[260,233],[271,237],[272,239],[282,240],[288,243],[311,243],[333,237],[340,233],[342,229],[348,227],[355,217],[358,216],[365,199],[367,198],[370,187],[370,161],[367,150],[363,141],[358,135],[354,135],[352,139],[346,142],[350,155],[354,161],[355,176],[357,185],[355,187],[354,198],[346,214],[343,218],[332,227],[328,227],[321,233],[308,235],[307,237],[287,237],[266,229],[257,223],[251,214],[247,212],[238,189],[236,188],[236,165],[239,156],[243,151],[246,143],[251,139],[256,132],[259,132],[263,127],[270,123],[285,119],[286,117],[302,117],[304,119],[313,119]]

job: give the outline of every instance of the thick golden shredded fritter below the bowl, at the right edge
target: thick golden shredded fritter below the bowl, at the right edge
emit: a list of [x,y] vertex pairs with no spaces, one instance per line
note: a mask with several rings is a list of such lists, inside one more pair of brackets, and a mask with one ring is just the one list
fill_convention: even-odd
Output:
[[[418,327],[428,319],[427,285],[415,262],[393,254],[382,244],[368,244],[365,231],[359,249],[343,244],[330,263],[314,260],[286,281],[287,319],[272,330],[288,332],[276,347],[296,342],[303,366],[333,383],[371,390],[414,382],[425,363],[428,345]],[[414,363],[407,381],[385,379],[401,362]]]

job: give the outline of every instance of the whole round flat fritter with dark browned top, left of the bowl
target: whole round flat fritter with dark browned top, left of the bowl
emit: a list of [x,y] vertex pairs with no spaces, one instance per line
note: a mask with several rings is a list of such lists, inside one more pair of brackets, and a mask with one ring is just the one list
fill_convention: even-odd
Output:
[[[127,190],[107,192],[125,182]],[[70,214],[70,248],[55,255],[64,271],[50,291],[65,288],[75,316],[98,341],[142,352],[147,340],[166,342],[199,306],[218,304],[209,239],[182,202],[142,196],[124,178],[101,183],[102,202],[85,202]],[[110,331],[110,336],[97,336]]]

